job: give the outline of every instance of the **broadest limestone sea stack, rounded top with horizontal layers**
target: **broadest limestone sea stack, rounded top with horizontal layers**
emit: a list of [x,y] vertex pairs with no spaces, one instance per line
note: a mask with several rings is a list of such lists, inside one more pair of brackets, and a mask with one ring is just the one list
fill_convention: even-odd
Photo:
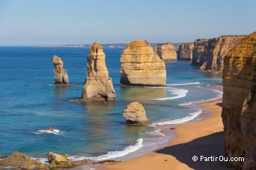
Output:
[[141,40],[127,45],[121,55],[121,84],[135,86],[165,86],[165,63],[153,48]]

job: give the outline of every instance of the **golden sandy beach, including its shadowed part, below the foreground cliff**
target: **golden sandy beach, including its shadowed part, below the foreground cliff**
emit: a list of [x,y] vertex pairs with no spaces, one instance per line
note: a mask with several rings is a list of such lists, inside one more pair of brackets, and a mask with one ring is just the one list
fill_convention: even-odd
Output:
[[[200,161],[201,156],[225,157],[225,152],[222,99],[199,105],[204,108],[201,116],[209,112],[210,116],[175,127],[177,138],[165,148],[120,163],[102,163],[103,169],[231,169],[226,162]],[[193,161],[193,156],[198,160]]]

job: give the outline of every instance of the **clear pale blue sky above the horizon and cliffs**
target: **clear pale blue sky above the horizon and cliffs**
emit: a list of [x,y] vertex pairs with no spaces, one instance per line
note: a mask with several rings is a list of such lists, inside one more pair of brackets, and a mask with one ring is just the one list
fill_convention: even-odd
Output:
[[0,0],[0,45],[193,42],[256,31],[255,0]]

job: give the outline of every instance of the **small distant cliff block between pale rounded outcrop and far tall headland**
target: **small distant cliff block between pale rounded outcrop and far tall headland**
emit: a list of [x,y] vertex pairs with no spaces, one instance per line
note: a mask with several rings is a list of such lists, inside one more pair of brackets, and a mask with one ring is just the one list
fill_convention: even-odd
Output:
[[178,60],[192,60],[194,43],[183,43],[179,45],[177,51]]

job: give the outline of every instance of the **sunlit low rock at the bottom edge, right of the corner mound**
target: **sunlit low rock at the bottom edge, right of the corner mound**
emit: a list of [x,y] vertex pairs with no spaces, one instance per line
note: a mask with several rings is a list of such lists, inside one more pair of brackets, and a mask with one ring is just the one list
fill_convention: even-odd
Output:
[[67,159],[66,155],[62,154],[55,154],[52,152],[49,152],[48,154],[48,160],[49,165],[48,168],[72,168],[74,166],[82,166],[86,163],[88,163],[88,160],[82,160],[82,161],[71,161]]

